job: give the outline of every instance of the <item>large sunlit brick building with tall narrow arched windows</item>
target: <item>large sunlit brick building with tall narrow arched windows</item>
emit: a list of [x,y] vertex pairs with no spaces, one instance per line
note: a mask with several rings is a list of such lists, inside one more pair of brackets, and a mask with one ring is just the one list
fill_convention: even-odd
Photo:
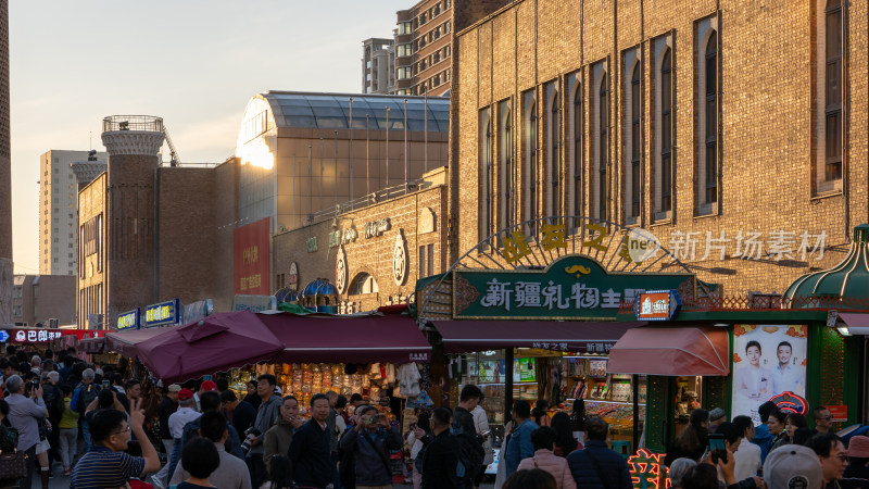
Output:
[[451,263],[547,215],[644,228],[727,294],[837,263],[869,220],[867,18],[525,0],[457,33]]

